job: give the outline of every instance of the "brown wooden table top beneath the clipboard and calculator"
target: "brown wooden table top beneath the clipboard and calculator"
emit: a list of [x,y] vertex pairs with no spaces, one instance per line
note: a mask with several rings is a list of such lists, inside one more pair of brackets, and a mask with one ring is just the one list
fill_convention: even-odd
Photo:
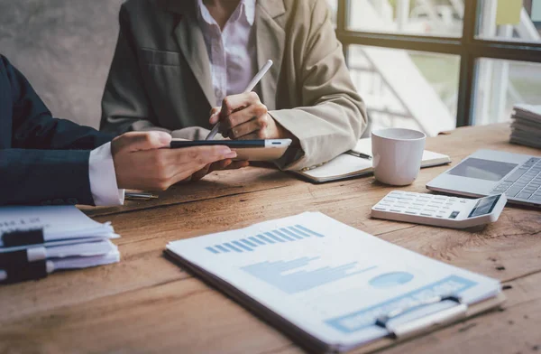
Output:
[[[508,144],[509,127],[466,127],[427,140],[458,163],[480,148],[541,155]],[[422,170],[405,191],[447,167]],[[541,351],[541,210],[506,208],[486,228],[457,231],[370,219],[393,188],[366,177],[313,185],[271,168],[215,172],[160,200],[85,209],[112,221],[122,261],[0,287],[0,352],[299,353],[292,340],[162,255],[167,242],[319,210],[355,228],[504,284],[507,303],[388,353]]]

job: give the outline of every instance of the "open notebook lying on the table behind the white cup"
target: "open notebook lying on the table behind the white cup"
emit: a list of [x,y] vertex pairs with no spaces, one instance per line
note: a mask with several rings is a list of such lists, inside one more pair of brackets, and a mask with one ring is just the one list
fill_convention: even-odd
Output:
[[[293,173],[298,174],[309,182],[324,183],[340,181],[348,178],[365,176],[373,172],[370,159],[359,157],[359,154],[371,156],[371,138],[359,140],[350,151],[338,155],[335,159],[321,165],[309,167]],[[421,168],[451,163],[451,158],[425,150]]]

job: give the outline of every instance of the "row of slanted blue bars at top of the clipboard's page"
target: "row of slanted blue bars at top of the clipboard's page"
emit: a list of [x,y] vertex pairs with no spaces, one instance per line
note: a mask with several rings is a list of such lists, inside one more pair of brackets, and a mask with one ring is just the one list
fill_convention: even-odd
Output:
[[206,250],[213,255],[231,253],[232,251],[236,253],[252,252],[262,246],[280,245],[286,242],[297,242],[299,240],[312,238],[314,236],[317,238],[325,238],[325,235],[322,235],[310,228],[302,225],[294,225],[263,232],[248,238],[241,238],[234,241],[225,242],[220,245],[206,247]]

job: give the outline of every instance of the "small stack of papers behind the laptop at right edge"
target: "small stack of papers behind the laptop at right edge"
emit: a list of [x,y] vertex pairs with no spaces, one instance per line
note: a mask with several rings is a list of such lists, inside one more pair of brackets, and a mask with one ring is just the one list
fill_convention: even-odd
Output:
[[541,106],[515,105],[514,110],[509,141],[541,149]]

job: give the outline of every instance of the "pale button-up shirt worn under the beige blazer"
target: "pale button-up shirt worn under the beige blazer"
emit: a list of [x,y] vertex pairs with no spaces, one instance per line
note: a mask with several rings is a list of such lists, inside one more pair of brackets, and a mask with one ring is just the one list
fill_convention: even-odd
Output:
[[222,106],[226,96],[243,93],[257,73],[255,33],[252,33],[255,1],[241,0],[221,31],[203,0],[197,0],[197,17],[210,61],[215,106]]

